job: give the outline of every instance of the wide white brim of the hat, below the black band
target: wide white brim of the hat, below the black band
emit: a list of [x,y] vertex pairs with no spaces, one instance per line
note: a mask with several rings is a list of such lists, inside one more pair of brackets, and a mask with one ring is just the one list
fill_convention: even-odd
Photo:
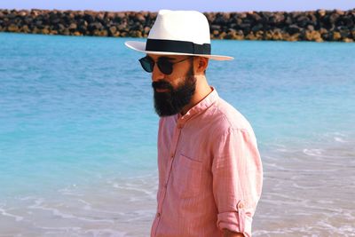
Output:
[[223,55],[193,54],[193,53],[172,52],[172,51],[146,51],[146,42],[139,42],[139,41],[126,41],[124,44],[134,51],[140,51],[140,52],[144,52],[146,54],[200,56],[200,57],[214,59],[214,60],[220,60],[220,61],[234,59],[233,57],[223,56]]

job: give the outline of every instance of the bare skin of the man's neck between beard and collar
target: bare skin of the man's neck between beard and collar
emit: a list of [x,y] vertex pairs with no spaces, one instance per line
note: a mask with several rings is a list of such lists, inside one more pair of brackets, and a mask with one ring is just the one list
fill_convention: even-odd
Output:
[[196,90],[194,91],[193,98],[188,105],[183,107],[180,114],[185,115],[190,108],[197,105],[202,99],[205,99],[210,92],[212,92],[212,88],[209,86],[209,83],[207,83],[206,76],[196,76]]

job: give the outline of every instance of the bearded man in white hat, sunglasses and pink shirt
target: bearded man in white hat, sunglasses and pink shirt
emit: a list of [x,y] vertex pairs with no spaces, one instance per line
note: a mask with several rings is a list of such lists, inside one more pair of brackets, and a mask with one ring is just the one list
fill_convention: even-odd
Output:
[[200,12],[158,13],[146,43],[158,134],[159,188],[151,236],[251,236],[263,169],[248,121],[209,86],[209,23]]

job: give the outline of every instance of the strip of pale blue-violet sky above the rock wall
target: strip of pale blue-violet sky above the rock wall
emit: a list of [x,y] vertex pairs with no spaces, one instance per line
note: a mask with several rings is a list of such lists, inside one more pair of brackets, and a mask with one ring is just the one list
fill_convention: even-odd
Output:
[[350,10],[355,0],[0,0],[0,9],[200,12]]

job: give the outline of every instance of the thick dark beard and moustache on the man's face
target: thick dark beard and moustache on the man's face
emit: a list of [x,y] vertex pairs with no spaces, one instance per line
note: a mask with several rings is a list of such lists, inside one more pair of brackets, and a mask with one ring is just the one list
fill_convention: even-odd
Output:
[[[160,117],[177,115],[193,98],[196,89],[196,79],[193,75],[193,65],[190,68],[183,82],[174,88],[166,81],[153,82],[154,108]],[[166,89],[165,92],[157,92],[156,89]]]

